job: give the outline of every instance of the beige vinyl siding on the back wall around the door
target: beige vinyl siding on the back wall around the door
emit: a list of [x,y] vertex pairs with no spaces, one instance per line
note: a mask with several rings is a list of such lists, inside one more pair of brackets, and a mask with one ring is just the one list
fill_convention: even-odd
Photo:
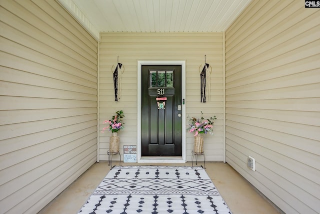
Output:
[[[120,153],[123,145],[136,145],[137,136],[137,61],[185,61],[186,67],[186,115],[205,117],[215,115],[214,135],[205,136],[206,160],[223,160],[223,34],[222,33],[102,33],[100,40],[100,131],[103,120],[122,109],[125,127],[118,132]],[[212,67],[210,75],[210,99],[200,103],[199,66]],[[121,99],[114,101],[112,65],[117,56],[124,66],[121,80]],[[202,69],[202,68],[201,68]],[[185,128],[185,127],[183,127]],[[99,158],[106,160],[109,132],[99,135]],[[186,155],[191,160],[193,136],[186,134]],[[118,158],[118,157],[114,157]]]

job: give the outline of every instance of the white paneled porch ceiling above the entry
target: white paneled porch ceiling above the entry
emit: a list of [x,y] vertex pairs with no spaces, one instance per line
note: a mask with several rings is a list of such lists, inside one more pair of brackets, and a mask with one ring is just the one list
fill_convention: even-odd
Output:
[[251,0],[57,0],[99,32],[224,32]]

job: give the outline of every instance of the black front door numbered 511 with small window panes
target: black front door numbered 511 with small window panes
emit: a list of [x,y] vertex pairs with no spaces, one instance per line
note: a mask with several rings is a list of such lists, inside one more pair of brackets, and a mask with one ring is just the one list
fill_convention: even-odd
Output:
[[141,67],[141,155],[182,155],[181,66]]

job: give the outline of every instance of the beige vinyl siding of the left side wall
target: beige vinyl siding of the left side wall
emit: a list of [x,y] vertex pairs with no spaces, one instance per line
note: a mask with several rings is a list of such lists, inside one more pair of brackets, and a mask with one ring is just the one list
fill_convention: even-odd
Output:
[[55,1],[0,4],[0,212],[36,213],[96,161],[97,42]]

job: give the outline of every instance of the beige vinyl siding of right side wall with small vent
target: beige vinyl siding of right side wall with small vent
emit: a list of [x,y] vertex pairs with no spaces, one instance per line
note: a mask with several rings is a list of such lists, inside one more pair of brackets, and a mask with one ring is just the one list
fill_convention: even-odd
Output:
[[225,32],[226,161],[285,213],[320,211],[319,19],[252,1]]

